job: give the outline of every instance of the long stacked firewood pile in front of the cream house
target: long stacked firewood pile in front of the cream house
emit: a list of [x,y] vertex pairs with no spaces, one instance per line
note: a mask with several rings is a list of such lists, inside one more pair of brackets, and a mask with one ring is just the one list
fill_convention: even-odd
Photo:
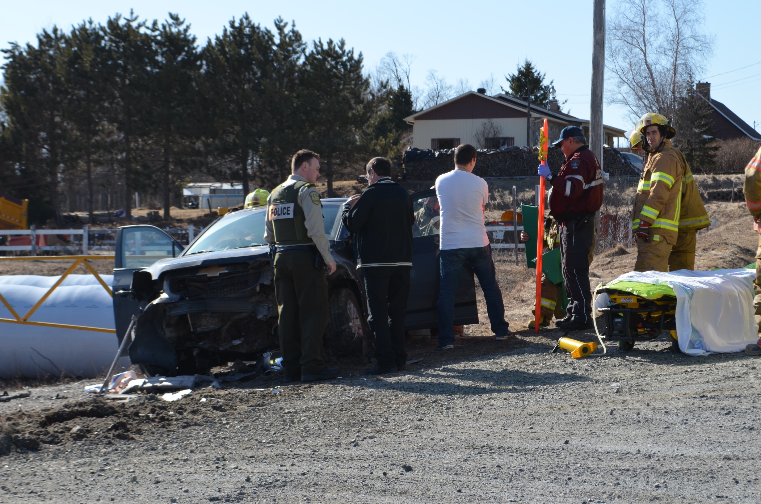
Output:
[[[501,151],[479,151],[473,173],[479,177],[533,177],[537,175],[537,147],[508,147]],[[559,148],[550,148],[547,163],[557,173],[565,161]],[[444,151],[409,148],[404,153],[406,180],[435,180],[439,175],[454,168],[454,149]],[[614,148],[603,149],[603,170],[611,177],[638,177],[638,171],[628,161],[623,161]]]

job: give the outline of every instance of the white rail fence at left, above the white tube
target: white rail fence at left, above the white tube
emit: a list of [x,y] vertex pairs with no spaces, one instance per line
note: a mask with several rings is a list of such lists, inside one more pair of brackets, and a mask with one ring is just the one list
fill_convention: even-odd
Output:
[[[7,250],[9,252],[29,252],[31,256],[36,256],[38,252],[45,250],[62,250],[68,253],[73,253],[75,250],[81,251],[81,255],[86,256],[90,250],[116,250],[116,229],[90,229],[90,226],[84,225],[81,229],[37,229],[35,226],[31,226],[29,229],[0,229],[0,236],[28,236],[28,245],[0,245],[0,251]],[[168,234],[173,235],[175,238],[179,238],[181,244],[190,244],[193,239],[196,238],[196,229],[192,224],[188,225],[187,229],[170,229],[166,228]],[[199,229],[203,231],[203,226]],[[45,235],[65,234],[68,235],[71,240],[71,244],[67,245],[40,245],[37,237]],[[113,239],[103,240],[95,239],[94,235],[113,234]],[[85,240],[84,236],[88,239]],[[78,237],[76,239],[75,237]],[[100,242],[101,244],[94,244]]]

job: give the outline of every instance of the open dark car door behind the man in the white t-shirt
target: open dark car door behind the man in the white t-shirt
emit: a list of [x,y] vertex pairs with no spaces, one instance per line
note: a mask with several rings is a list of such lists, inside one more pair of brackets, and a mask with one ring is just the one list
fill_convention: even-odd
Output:
[[[438,327],[436,302],[439,273],[439,215],[436,191],[428,189],[412,195],[415,223],[412,225],[412,271],[409,273],[406,329]],[[466,263],[454,298],[454,325],[478,324],[476,282]]]

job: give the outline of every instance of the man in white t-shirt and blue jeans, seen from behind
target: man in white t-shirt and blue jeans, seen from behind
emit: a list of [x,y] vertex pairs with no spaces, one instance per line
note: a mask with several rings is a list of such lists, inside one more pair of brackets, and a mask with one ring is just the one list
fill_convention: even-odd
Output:
[[505,321],[505,304],[486,236],[484,207],[489,201],[486,180],[474,175],[476,148],[458,145],[454,150],[454,170],[436,179],[436,196],[441,206],[439,259],[441,288],[438,294],[438,349],[454,348],[454,298],[465,263],[476,273],[486,299],[486,311],[497,340],[512,336]]

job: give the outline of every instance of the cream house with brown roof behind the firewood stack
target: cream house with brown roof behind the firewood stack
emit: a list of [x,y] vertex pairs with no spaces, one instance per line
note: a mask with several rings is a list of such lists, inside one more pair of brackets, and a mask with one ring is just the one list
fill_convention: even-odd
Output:
[[[589,138],[589,121],[560,111],[557,100],[549,109],[531,104],[531,131],[527,142],[527,102],[507,94],[489,96],[486,90],[468,91],[435,107],[406,117],[412,125],[412,147],[434,150],[470,143],[476,148],[501,148],[511,145],[538,145],[539,129],[546,119],[551,139],[559,137],[565,126],[579,126]],[[490,132],[484,138],[483,133]],[[603,126],[605,143],[626,136],[623,129]],[[480,133],[480,134],[479,134]]]

